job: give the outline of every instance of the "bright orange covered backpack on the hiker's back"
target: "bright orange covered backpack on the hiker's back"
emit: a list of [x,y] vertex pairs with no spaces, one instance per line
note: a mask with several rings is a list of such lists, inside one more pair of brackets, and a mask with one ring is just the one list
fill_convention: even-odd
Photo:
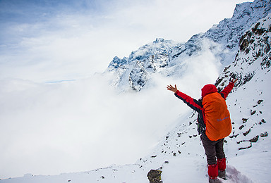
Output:
[[205,134],[211,141],[223,139],[231,133],[231,118],[225,99],[218,92],[203,97]]

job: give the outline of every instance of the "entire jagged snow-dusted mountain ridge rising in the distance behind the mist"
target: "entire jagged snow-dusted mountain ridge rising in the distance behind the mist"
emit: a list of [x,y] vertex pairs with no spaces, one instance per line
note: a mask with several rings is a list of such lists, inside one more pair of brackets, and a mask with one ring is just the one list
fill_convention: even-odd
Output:
[[[188,42],[177,43],[162,38],[156,39],[133,51],[128,58],[116,56],[106,72],[114,73],[112,84],[115,87],[121,90],[131,88],[138,92],[145,87],[154,74],[181,77],[181,73],[186,70],[186,63],[183,61],[206,51],[206,42],[207,49],[215,58],[222,65],[229,65],[236,58],[239,44],[241,44],[241,51],[248,51],[248,39],[242,36],[253,23],[271,12],[270,7],[271,1],[267,0],[238,4],[232,18],[222,20],[205,33],[195,34]],[[263,34],[257,26],[255,26],[255,31]],[[246,37],[249,35],[247,34]],[[266,65],[268,62],[263,63],[263,67]],[[250,76],[247,77],[249,79]]]

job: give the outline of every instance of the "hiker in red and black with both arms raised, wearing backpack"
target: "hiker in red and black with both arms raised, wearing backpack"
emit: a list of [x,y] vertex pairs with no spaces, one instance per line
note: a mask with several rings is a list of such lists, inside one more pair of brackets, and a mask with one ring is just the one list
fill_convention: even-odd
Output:
[[225,99],[234,83],[231,80],[222,92],[218,92],[214,84],[206,84],[201,89],[201,99],[196,100],[180,92],[176,84],[170,84],[167,89],[174,95],[198,112],[198,133],[203,142],[207,156],[207,172],[210,183],[217,183],[220,177],[226,179],[226,156],[224,153],[224,138],[231,133],[231,118]]

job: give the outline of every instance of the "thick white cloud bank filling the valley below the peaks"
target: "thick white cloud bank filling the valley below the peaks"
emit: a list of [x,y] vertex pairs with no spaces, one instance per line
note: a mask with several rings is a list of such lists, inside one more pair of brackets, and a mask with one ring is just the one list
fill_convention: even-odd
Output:
[[135,163],[189,110],[167,84],[198,99],[200,88],[217,78],[219,61],[210,51],[185,62],[181,79],[153,75],[141,92],[119,93],[109,85],[111,76],[100,74],[51,84],[2,80],[1,176]]

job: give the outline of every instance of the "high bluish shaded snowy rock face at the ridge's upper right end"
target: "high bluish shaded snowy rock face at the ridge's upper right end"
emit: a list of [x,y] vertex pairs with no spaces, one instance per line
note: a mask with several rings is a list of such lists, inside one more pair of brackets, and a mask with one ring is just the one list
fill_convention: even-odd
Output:
[[213,26],[203,37],[212,39],[222,45],[222,53],[216,53],[224,65],[233,61],[239,49],[239,39],[251,25],[270,13],[270,1],[254,1],[237,4],[232,18],[222,20],[219,25]]

